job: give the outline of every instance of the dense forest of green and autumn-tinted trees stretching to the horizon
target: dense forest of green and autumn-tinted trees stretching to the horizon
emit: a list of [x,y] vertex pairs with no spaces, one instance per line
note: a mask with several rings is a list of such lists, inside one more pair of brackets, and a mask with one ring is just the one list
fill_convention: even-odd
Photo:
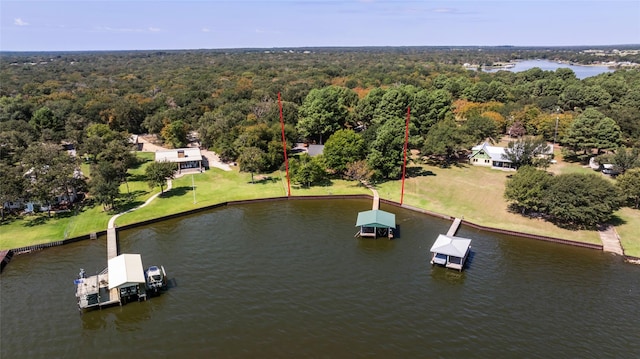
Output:
[[[461,66],[609,59],[578,48],[309,50],[3,53],[3,174],[35,171],[27,154],[68,142],[92,161],[91,188],[111,207],[132,166],[122,155],[128,134],[153,133],[181,147],[190,131],[242,170],[276,170],[283,162],[278,93],[287,144],[327,145],[321,160],[293,165],[304,169],[298,179],[307,185],[324,180],[318,166],[350,178],[398,178],[408,108],[410,149],[445,164],[501,134],[561,143],[578,160],[632,151],[640,142],[638,69],[580,80],[569,69],[485,73]],[[24,197],[28,186],[9,177],[2,176],[2,199]]]

